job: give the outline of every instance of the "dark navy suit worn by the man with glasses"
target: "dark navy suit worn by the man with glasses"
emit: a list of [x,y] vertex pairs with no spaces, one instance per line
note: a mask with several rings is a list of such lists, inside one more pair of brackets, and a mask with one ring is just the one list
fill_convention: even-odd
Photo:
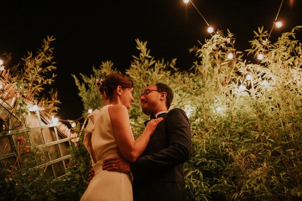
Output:
[[180,108],[159,115],[157,126],[142,155],[130,164],[134,201],[187,200],[183,163],[191,152],[191,128]]

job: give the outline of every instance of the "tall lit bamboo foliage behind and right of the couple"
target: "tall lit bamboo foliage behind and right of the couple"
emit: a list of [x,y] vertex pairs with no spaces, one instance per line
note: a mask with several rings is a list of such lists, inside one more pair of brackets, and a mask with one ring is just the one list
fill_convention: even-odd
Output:
[[[201,47],[190,49],[197,60],[184,72],[175,68],[176,59],[155,60],[146,42],[136,40],[139,56],[133,56],[125,72],[134,83],[136,101],[129,110],[133,133],[138,137],[148,118],[137,100],[143,88],[168,84],[175,93],[171,108],[183,108],[191,122],[193,149],[185,163],[189,200],[301,199],[302,46],[295,39],[299,28],[281,34],[274,43],[259,28],[246,50],[255,57],[262,53],[259,61],[243,60],[233,34],[214,34]],[[82,75],[84,83],[76,79],[85,111],[104,104],[93,82],[113,71],[107,61],[94,68],[91,77]]]

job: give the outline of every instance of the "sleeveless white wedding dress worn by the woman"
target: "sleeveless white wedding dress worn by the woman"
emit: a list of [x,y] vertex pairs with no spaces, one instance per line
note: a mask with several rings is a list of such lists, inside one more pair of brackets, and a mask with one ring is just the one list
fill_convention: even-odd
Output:
[[[92,159],[95,175],[83,194],[81,201],[133,201],[130,174],[102,170],[104,159],[119,156],[120,151],[106,105],[88,115],[85,128],[84,145],[92,159],[92,150],[96,163]],[[91,143],[90,143],[91,140]],[[93,149],[91,149],[91,145]]]

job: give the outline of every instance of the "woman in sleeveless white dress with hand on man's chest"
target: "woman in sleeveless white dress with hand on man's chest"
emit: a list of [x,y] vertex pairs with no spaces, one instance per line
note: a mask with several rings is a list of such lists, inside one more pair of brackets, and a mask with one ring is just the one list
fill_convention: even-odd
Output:
[[113,73],[104,81],[98,78],[95,84],[107,105],[88,115],[84,145],[90,153],[95,175],[81,201],[132,201],[130,174],[103,171],[103,160],[122,156],[127,161],[134,162],[146,148],[163,118],[149,121],[145,131],[134,141],[127,111],[134,101],[133,82],[127,76]]

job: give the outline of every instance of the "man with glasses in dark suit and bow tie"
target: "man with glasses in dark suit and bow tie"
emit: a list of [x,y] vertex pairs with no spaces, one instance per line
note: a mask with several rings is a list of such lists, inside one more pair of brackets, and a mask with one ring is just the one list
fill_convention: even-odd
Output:
[[131,171],[134,201],[187,200],[183,163],[189,159],[191,152],[188,117],[180,108],[167,112],[173,92],[166,84],[147,86],[139,99],[144,114],[151,118],[163,117],[164,120],[135,162],[129,163],[123,158],[106,159],[103,170]]

